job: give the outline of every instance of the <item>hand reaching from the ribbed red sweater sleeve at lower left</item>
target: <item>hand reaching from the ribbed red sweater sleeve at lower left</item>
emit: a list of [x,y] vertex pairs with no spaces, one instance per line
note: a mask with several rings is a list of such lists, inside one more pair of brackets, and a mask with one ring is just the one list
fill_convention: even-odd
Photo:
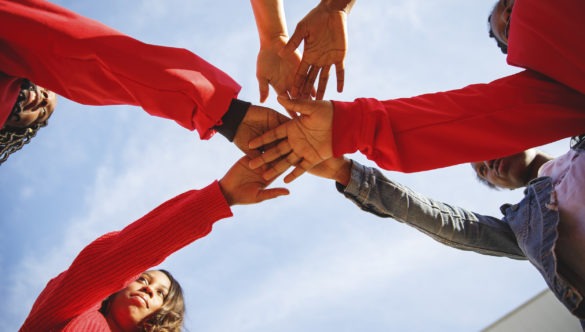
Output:
[[262,177],[262,169],[251,169],[249,161],[248,156],[242,157],[219,180],[221,191],[230,206],[260,203],[289,194],[286,188],[266,189],[272,181]]

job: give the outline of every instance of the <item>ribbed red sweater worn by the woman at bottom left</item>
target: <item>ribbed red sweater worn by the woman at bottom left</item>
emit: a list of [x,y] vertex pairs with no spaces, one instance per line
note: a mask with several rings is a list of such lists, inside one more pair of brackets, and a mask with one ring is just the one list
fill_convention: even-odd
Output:
[[20,331],[110,331],[101,302],[232,215],[219,184],[183,193],[85,247],[49,281]]

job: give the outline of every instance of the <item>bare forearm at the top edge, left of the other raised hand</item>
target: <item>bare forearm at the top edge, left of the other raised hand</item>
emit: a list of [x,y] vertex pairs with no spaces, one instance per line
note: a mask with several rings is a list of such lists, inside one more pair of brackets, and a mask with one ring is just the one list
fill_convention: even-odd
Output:
[[282,41],[288,38],[282,0],[250,0],[250,3],[256,20],[261,48],[268,47],[275,40]]

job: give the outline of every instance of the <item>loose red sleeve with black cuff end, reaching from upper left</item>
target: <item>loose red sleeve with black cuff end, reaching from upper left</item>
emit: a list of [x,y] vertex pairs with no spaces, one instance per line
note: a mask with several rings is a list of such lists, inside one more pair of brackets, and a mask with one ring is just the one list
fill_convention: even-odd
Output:
[[197,55],[47,1],[0,0],[0,71],[88,105],[127,104],[209,138],[240,86]]

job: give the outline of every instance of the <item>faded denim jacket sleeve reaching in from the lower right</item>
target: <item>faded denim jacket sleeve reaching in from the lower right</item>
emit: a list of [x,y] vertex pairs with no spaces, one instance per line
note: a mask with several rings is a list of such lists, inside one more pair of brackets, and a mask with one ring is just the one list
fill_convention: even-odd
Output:
[[374,168],[354,161],[348,186],[338,189],[362,210],[406,223],[445,245],[524,259],[514,233],[502,220],[432,200]]

